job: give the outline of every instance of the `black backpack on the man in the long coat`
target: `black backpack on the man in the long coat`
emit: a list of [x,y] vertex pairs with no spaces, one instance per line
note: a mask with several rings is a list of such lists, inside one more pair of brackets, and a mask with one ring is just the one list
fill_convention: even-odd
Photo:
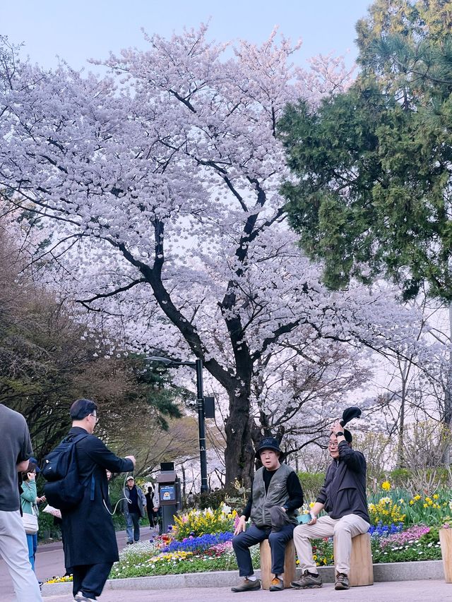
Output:
[[[47,483],[44,495],[49,505],[59,510],[72,510],[83,499],[86,485],[78,475],[76,444],[88,437],[88,433],[69,435],[55,449],[44,457],[42,476]],[[94,499],[94,475],[91,478],[91,497]]]

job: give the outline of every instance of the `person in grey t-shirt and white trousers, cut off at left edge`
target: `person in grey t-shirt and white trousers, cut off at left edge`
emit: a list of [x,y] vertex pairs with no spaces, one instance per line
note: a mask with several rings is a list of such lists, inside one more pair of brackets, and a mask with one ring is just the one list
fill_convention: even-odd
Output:
[[42,602],[40,586],[28,560],[20,517],[18,472],[32,455],[30,433],[22,414],[0,404],[0,556],[13,579],[18,602]]

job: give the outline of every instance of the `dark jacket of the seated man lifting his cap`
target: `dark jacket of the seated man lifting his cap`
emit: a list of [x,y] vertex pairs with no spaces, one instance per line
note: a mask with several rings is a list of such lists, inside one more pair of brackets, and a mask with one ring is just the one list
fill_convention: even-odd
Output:
[[339,444],[339,457],[326,471],[325,482],[316,499],[332,519],[357,514],[370,522],[366,496],[366,459],[346,441]]

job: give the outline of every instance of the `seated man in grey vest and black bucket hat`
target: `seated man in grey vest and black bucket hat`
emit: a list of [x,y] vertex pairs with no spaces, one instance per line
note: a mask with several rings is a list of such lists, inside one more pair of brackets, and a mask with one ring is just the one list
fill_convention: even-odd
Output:
[[[284,555],[287,541],[297,525],[297,508],[303,503],[303,491],[294,469],[280,464],[283,459],[278,440],[266,437],[259,443],[256,457],[263,466],[256,471],[248,503],[234,531],[232,546],[237,556],[241,582],[232,591],[261,589],[254,575],[250,546],[268,539],[271,550],[271,572],[274,574],[270,591],[284,589]],[[246,529],[246,521],[251,525]]]

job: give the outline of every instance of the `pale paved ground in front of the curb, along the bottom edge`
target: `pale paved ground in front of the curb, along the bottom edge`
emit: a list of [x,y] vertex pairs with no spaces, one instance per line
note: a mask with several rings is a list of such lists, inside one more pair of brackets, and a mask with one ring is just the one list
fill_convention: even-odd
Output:
[[[10,598],[11,599],[11,598]],[[71,602],[72,596],[47,596],[44,602]],[[442,581],[403,581],[376,583],[369,587],[354,587],[347,591],[335,591],[333,584],[325,584],[321,589],[284,591],[251,591],[248,594],[233,594],[229,588],[192,588],[159,590],[106,591],[100,602],[261,602],[279,600],[281,602],[451,602],[452,584]]]

